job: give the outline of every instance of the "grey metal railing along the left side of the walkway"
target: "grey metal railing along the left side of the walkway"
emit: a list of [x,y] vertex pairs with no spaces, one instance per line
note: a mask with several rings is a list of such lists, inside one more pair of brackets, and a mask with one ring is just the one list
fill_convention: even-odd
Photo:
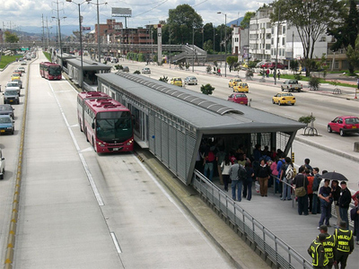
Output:
[[311,263],[293,247],[279,239],[197,170],[193,174],[192,185],[208,203],[223,214],[235,230],[240,231],[242,236],[258,248],[276,267],[312,268]]

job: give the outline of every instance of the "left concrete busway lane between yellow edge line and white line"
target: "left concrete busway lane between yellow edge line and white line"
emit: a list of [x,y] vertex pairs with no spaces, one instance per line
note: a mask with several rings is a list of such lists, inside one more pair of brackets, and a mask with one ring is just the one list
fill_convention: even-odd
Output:
[[13,264],[16,268],[121,268],[54,94],[36,71],[29,87]]

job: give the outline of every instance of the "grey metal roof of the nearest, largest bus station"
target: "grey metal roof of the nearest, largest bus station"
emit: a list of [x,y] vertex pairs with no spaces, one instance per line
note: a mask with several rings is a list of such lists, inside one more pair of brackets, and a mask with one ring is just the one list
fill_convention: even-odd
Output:
[[305,125],[256,108],[160,82],[141,74],[96,74],[112,89],[120,88],[161,108],[204,134],[293,132]]

